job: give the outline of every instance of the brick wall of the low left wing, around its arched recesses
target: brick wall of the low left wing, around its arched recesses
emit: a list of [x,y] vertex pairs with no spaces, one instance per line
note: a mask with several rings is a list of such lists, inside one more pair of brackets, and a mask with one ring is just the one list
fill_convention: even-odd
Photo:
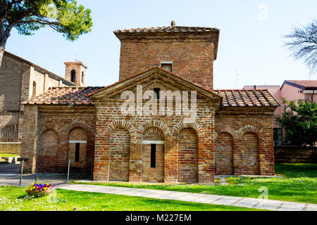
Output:
[[[87,136],[87,152],[81,157],[85,158],[85,165],[73,167],[73,172],[91,173],[92,162],[94,160],[94,129],[96,126],[96,111],[92,106],[82,106],[69,108],[68,106],[37,106],[25,105],[25,115],[23,119],[23,137],[21,146],[21,157],[29,158],[25,165],[25,173],[34,173],[36,168],[36,151],[41,145],[37,144],[41,134],[46,130],[54,130],[57,134],[57,153],[51,152],[46,158],[51,158],[56,162],[56,169],[50,172],[66,173],[68,168],[68,148],[70,148],[70,158],[73,145],[68,145],[70,139],[85,139]],[[78,129],[76,129],[78,128]],[[74,131],[74,133],[72,132]],[[84,132],[85,131],[85,135]],[[80,140],[75,140],[80,141]],[[40,141],[38,141],[40,143]],[[80,152],[85,152],[85,144],[80,144]],[[74,165],[75,166],[75,165]]]

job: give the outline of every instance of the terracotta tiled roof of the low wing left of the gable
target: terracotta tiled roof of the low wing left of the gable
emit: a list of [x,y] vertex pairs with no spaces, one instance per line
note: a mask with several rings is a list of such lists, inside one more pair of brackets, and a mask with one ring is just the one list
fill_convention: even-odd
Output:
[[54,87],[46,91],[45,94],[35,96],[23,104],[37,104],[37,105],[68,105],[74,103],[75,105],[92,105],[90,94],[101,86],[87,86],[87,87]]

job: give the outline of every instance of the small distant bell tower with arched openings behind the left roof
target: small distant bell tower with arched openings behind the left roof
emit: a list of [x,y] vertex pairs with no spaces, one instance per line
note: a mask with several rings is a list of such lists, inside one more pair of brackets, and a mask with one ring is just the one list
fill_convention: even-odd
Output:
[[65,62],[65,79],[73,82],[79,86],[86,86],[86,70],[87,65],[74,60],[71,62]]

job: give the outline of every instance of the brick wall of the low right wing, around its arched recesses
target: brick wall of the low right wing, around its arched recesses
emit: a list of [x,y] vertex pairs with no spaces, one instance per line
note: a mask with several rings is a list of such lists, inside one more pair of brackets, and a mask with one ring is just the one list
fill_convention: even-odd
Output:
[[[273,112],[270,108],[220,108],[215,117],[218,133],[228,132],[233,138],[234,174],[244,174],[244,152],[259,145],[259,174],[274,175]],[[252,132],[255,136],[244,136]],[[244,136],[244,139],[243,139]],[[249,140],[251,139],[251,140]],[[249,173],[249,172],[248,172]]]

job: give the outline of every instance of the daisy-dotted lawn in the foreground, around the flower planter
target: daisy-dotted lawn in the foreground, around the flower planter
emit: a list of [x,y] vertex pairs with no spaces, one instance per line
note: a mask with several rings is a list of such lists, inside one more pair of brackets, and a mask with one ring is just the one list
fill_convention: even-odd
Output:
[[[54,196],[54,195],[51,195]],[[51,198],[53,199],[53,198]],[[0,211],[73,210],[78,211],[249,211],[253,209],[225,205],[188,203],[175,200],[158,200],[125,195],[110,195],[56,189],[56,200],[47,197],[33,198],[25,188],[0,186]]]

